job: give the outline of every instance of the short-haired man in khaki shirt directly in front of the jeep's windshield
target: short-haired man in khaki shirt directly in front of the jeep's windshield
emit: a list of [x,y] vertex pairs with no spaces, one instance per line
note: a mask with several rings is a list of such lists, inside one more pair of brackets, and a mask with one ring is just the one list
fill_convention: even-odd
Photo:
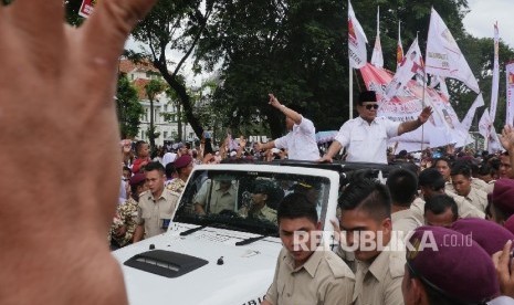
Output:
[[[352,304],[355,280],[349,267],[334,252],[311,244],[322,227],[311,201],[300,193],[286,196],[279,204],[277,221],[283,249],[261,305]],[[298,232],[305,234],[303,244],[295,244]]]

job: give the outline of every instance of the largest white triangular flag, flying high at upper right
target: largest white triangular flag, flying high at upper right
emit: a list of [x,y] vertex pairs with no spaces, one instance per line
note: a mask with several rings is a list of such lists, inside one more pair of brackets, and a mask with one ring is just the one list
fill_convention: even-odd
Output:
[[462,55],[450,30],[448,30],[448,27],[433,8],[427,41],[426,65],[427,73],[457,78],[472,91],[480,92],[479,83],[470,65]]

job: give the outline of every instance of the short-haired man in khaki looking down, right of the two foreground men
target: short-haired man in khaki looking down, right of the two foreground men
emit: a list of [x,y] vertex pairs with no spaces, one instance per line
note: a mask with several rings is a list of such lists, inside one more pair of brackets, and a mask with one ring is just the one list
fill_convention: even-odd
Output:
[[[405,252],[392,251],[403,246],[392,235],[387,187],[369,179],[352,182],[339,197],[339,208],[343,239],[357,260],[353,304],[403,304]],[[386,246],[391,249],[384,251]]]

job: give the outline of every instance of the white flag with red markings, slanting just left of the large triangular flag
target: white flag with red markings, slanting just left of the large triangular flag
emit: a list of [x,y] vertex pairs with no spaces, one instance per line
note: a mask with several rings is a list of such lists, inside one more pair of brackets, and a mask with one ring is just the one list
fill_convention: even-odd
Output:
[[398,92],[398,90],[406,87],[407,83],[412,80],[418,73],[423,73],[423,62],[421,51],[419,50],[418,39],[412,42],[396,71],[391,82],[386,87],[386,98],[390,101]]

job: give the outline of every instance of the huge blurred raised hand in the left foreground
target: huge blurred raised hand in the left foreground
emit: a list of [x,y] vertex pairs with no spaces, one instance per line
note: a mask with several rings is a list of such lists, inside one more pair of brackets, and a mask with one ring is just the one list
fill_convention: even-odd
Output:
[[107,248],[120,177],[113,96],[124,42],[155,0],[0,6],[0,304],[123,304]]

